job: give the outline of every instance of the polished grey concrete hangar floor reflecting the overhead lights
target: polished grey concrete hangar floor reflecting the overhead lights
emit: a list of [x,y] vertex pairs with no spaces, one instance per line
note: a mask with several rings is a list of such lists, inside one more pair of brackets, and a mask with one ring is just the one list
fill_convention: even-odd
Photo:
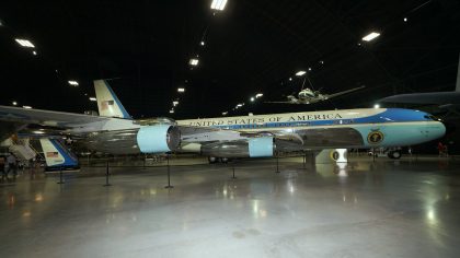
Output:
[[301,159],[25,173],[0,184],[0,257],[460,257],[460,162]]

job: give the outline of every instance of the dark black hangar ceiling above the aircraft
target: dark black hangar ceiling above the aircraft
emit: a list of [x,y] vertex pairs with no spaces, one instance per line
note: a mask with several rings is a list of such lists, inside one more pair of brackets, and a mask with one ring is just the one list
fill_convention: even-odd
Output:
[[[95,79],[113,79],[135,118],[370,107],[394,93],[455,89],[458,1],[229,0],[222,12],[209,5],[210,0],[2,2],[0,104],[96,109],[88,99]],[[381,36],[363,42],[371,31]],[[30,39],[37,55],[14,38]],[[192,69],[188,61],[196,56],[199,63]],[[309,68],[313,87],[324,93],[366,89],[310,106],[263,103],[298,91],[302,80],[295,73]],[[180,86],[185,93],[177,93]],[[261,92],[263,99],[251,104]],[[246,105],[232,110],[238,103]]]

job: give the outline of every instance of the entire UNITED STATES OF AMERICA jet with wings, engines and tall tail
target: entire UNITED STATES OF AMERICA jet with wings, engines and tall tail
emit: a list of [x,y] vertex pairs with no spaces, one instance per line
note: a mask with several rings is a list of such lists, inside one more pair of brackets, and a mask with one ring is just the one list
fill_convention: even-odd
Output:
[[210,157],[276,151],[414,145],[445,134],[432,115],[400,108],[288,113],[206,119],[133,119],[106,81],[94,81],[100,116],[0,106],[0,120],[53,128],[94,152],[198,152]]

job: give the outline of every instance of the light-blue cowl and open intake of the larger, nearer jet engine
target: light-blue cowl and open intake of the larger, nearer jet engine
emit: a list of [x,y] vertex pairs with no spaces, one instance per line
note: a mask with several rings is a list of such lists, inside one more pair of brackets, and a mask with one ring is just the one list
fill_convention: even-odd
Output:
[[170,125],[141,127],[137,132],[137,145],[142,153],[174,151],[181,143],[181,132]]

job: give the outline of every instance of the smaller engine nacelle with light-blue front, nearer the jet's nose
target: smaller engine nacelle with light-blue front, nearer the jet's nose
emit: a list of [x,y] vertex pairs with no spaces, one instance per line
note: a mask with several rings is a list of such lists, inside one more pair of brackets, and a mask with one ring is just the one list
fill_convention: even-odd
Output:
[[273,137],[251,138],[248,141],[216,142],[202,146],[202,154],[217,157],[273,156]]

